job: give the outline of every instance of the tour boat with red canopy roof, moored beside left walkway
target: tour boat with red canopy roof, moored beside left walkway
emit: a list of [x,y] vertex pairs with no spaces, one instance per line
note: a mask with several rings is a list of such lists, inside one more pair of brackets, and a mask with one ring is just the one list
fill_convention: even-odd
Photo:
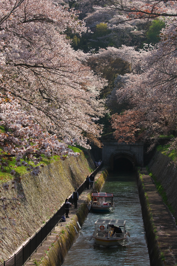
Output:
[[115,209],[112,193],[92,193],[89,209],[92,208],[93,211],[110,211],[112,207]]

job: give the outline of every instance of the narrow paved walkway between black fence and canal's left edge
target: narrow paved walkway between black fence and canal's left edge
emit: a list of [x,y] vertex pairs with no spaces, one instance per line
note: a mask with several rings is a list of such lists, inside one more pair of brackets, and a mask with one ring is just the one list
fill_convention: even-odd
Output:
[[[98,172],[95,176],[95,181],[98,180],[98,177],[101,175],[105,168],[101,168],[100,172]],[[85,202],[87,195],[91,192],[92,189],[85,190],[83,194],[79,196],[79,200],[77,201],[77,208],[79,209],[80,205]],[[69,217],[66,218],[66,222],[59,223],[58,226],[55,227],[55,230],[51,232],[51,235],[47,237],[47,240],[42,243],[42,246],[37,249],[37,252],[34,253],[31,256],[31,260],[28,260],[25,264],[26,266],[31,265],[38,265],[40,264],[41,258],[46,256],[47,251],[49,251],[49,248],[52,247],[52,244],[57,241],[59,236],[62,234],[62,230],[67,230],[67,224],[71,221],[73,216],[76,214],[77,209],[74,209],[74,206],[72,206],[72,209],[70,209]]]

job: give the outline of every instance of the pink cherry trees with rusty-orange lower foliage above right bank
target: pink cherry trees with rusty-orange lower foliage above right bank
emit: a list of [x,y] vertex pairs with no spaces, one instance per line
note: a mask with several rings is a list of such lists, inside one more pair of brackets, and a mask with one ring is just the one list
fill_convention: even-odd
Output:
[[119,141],[143,140],[152,148],[159,135],[176,131],[176,29],[176,18],[168,18],[160,43],[144,53],[142,73],[129,76],[117,90],[118,103],[129,106],[112,117]]

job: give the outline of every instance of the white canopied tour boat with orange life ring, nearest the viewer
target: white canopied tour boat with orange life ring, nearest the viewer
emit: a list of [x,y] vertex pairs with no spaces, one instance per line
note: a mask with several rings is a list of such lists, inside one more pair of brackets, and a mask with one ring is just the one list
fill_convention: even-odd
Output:
[[[126,232],[125,229],[126,221],[119,220],[119,219],[98,219],[95,222],[95,231],[92,236],[90,236],[91,240],[92,238],[95,239],[95,242],[98,245],[103,246],[119,246],[123,244],[124,239],[128,242],[128,236],[130,236],[129,231]],[[115,231],[120,231],[121,233],[114,233],[113,229],[114,227]],[[120,229],[119,229],[120,227]],[[113,234],[114,233],[114,234]]]

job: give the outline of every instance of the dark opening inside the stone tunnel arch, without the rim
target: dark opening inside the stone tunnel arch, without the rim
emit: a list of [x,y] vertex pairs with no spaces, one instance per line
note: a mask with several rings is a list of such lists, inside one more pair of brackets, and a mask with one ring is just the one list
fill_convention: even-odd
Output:
[[133,164],[127,158],[114,158],[113,171],[133,171]]

